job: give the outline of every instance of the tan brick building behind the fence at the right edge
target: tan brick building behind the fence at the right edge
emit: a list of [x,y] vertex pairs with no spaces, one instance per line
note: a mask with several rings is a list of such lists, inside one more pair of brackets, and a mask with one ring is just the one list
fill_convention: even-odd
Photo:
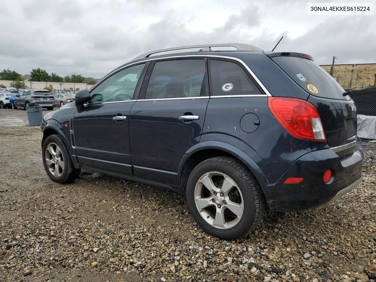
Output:
[[[332,65],[321,65],[330,73]],[[376,84],[375,64],[334,65],[333,77],[345,89],[359,89]]]

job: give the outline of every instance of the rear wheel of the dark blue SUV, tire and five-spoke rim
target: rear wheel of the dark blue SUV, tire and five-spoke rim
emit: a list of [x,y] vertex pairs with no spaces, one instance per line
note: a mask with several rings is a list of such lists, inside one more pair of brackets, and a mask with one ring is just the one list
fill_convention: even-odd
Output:
[[235,240],[255,230],[265,211],[252,173],[236,159],[215,157],[197,165],[186,185],[188,208],[208,234]]

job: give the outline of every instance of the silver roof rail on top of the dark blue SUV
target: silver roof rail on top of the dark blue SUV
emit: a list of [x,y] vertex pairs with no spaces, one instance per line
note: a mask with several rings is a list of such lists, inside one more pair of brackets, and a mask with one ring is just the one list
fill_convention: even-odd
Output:
[[139,55],[138,57],[134,58],[132,61],[142,59],[142,58],[147,58],[150,56],[158,56],[158,55],[165,55],[165,54],[208,52],[208,51],[263,51],[263,50],[256,46],[243,44],[243,43],[189,45],[189,46],[173,47],[173,48],[147,52],[142,55]]

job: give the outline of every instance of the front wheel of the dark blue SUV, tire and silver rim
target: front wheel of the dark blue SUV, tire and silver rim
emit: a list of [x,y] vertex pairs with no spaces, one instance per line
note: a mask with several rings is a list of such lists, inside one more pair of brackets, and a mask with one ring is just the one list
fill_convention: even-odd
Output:
[[44,140],[42,160],[47,175],[57,183],[70,183],[80,172],[80,169],[74,168],[67,146],[58,134],[50,135]]

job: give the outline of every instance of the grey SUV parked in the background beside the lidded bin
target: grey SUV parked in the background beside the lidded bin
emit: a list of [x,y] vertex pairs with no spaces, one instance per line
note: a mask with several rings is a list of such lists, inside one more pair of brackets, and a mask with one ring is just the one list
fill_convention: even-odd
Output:
[[49,110],[53,110],[55,99],[52,93],[45,89],[24,89],[12,102],[12,109],[26,109],[30,106],[42,106]]

